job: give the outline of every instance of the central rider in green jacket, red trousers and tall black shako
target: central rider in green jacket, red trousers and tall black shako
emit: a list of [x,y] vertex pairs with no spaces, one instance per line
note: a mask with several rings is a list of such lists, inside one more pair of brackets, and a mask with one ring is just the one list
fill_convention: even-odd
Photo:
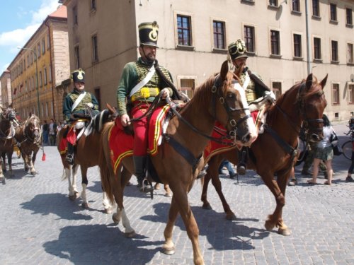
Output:
[[[156,61],[159,25],[156,21],[141,23],[138,29],[141,57],[137,61],[125,64],[117,90],[118,119],[120,119],[118,122],[122,126],[129,125],[131,117],[141,117],[146,113],[156,96],[161,95],[162,99],[166,99],[170,95],[177,94],[171,85],[173,82],[171,73],[163,66],[158,66]],[[148,118],[142,117],[133,122],[132,126],[135,133],[133,160],[137,187],[140,192],[151,192],[151,185],[144,184],[147,165]]]

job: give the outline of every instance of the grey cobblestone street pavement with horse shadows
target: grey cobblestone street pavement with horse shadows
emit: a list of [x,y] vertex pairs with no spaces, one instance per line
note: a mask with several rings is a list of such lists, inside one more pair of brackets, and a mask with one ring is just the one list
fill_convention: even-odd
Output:
[[[343,143],[346,126],[335,129]],[[134,186],[126,188],[125,208],[138,234],[127,239],[122,225],[103,213],[97,167],[89,170],[91,208],[86,210],[79,206],[80,199],[68,199],[57,149],[46,146],[45,153],[45,161],[41,151],[38,155],[38,175],[26,174],[22,161],[14,158],[15,176],[0,184],[0,264],[193,264],[192,246],[179,217],[173,231],[176,254],[161,253],[171,201],[163,191],[152,201]],[[221,179],[236,221],[225,219],[213,187],[208,192],[213,210],[200,208],[201,187],[196,182],[189,201],[205,264],[354,264],[354,183],[344,182],[349,165],[343,155],[333,160],[331,186],[310,186],[300,177],[297,186],[287,187],[283,217],[292,230],[288,237],[264,229],[275,199],[255,172],[239,177],[239,184]],[[80,182],[81,177],[79,191]]]

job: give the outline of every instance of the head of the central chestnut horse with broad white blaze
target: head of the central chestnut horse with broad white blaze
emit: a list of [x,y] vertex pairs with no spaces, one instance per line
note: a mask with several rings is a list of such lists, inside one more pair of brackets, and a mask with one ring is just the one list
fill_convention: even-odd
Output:
[[224,61],[212,87],[212,101],[215,103],[210,106],[214,110],[210,111],[227,129],[230,136],[235,136],[242,145],[250,146],[256,140],[256,127],[244,89],[235,86],[235,83],[234,73],[229,71],[227,61]]

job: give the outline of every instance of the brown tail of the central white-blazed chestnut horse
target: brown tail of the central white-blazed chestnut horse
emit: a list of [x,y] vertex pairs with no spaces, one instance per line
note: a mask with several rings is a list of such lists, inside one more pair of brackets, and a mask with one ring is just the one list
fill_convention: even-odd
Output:
[[111,204],[114,204],[114,194],[113,194],[113,187],[114,183],[111,179],[110,175],[113,172],[112,165],[110,164],[110,160],[107,159],[110,157],[110,150],[108,146],[108,132],[110,126],[113,124],[105,124],[103,126],[103,130],[101,133],[101,149],[99,154],[98,165],[100,168],[100,175],[101,175],[101,184],[103,192],[107,194],[107,197]]

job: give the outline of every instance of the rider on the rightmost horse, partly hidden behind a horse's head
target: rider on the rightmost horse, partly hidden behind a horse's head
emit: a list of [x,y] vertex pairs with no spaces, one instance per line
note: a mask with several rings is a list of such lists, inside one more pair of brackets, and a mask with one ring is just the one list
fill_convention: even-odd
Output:
[[[258,110],[267,102],[273,102],[275,95],[268,86],[262,81],[257,73],[251,73],[246,66],[248,58],[247,49],[243,40],[236,40],[229,44],[229,57],[234,65],[234,74],[239,81],[239,85],[244,88],[246,100],[249,103],[253,120],[256,120]],[[246,173],[246,147],[239,151],[239,163],[237,173],[244,175]]]

